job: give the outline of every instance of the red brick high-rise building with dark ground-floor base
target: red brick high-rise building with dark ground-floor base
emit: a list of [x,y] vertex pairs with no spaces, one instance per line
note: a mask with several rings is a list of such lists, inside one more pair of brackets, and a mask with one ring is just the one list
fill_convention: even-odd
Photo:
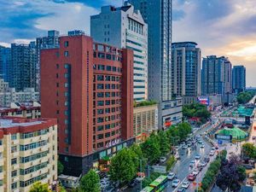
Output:
[[41,51],[42,117],[58,119],[64,173],[79,176],[133,142],[133,52],[63,36]]

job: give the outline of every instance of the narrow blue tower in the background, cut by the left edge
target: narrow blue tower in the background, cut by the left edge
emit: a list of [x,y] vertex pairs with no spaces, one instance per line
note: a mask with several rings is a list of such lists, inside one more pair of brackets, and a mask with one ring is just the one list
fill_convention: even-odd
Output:
[[11,61],[10,48],[0,45],[0,78],[4,81],[9,80],[9,66]]

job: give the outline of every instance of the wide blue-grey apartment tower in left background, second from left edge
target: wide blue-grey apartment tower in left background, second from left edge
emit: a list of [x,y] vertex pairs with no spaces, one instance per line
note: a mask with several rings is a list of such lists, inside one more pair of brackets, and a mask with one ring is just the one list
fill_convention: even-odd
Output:
[[9,86],[17,91],[36,86],[36,44],[11,44]]

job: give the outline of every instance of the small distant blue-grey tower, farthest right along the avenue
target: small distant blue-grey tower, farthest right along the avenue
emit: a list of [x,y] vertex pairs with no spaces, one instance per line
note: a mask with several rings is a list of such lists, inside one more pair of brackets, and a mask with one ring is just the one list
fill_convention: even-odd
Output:
[[246,90],[246,67],[244,66],[233,67],[232,88],[236,94]]

